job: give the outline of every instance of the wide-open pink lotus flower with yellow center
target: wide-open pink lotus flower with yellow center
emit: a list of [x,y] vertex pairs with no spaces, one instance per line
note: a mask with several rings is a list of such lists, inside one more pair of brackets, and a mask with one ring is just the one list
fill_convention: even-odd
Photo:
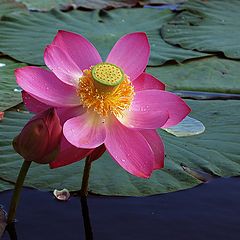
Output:
[[147,178],[163,167],[164,146],[156,129],[178,124],[190,109],[144,72],[149,54],[142,32],[119,39],[103,62],[84,37],[59,31],[44,53],[52,72],[38,67],[16,70],[28,109],[55,107],[63,124],[61,153],[52,167],[105,148],[138,177]]

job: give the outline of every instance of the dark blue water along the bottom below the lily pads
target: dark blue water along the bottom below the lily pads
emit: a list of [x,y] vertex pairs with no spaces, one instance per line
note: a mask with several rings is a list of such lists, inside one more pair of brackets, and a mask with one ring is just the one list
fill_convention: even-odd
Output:
[[[0,193],[7,209],[11,191]],[[151,197],[89,196],[94,240],[239,240],[240,178]],[[24,189],[15,224],[18,240],[85,239],[81,201],[59,202]],[[2,240],[9,240],[5,232]]]

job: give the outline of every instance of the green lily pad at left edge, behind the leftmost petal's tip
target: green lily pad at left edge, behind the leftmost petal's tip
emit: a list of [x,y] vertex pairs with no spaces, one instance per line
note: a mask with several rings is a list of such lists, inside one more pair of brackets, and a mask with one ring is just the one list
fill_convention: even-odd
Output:
[[5,111],[22,102],[21,90],[16,83],[14,69],[25,65],[0,57],[0,111]]

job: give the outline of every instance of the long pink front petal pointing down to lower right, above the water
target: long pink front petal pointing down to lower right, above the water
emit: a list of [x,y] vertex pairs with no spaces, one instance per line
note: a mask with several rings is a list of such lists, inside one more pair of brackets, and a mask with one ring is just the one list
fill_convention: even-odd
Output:
[[140,132],[125,127],[116,119],[107,128],[105,146],[112,158],[126,171],[137,177],[150,177],[154,153]]

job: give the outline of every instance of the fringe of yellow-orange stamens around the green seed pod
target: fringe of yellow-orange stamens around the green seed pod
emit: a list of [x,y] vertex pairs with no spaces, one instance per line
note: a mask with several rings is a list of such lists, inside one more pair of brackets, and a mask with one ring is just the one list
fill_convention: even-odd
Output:
[[[93,78],[92,69],[84,70],[83,76],[79,79],[77,95],[80,97],[81,103],[103,118],[111,114],[122,116],[123,111],[130,107],[134,97],[134,88],[129,77],[124,74],[120,84],[111,89],[107,85],[105,86],[106,91],[103,91],[102,87],[98,88],[94,84],[95,78]],[[111,77],[107,79],[111,79]]]

